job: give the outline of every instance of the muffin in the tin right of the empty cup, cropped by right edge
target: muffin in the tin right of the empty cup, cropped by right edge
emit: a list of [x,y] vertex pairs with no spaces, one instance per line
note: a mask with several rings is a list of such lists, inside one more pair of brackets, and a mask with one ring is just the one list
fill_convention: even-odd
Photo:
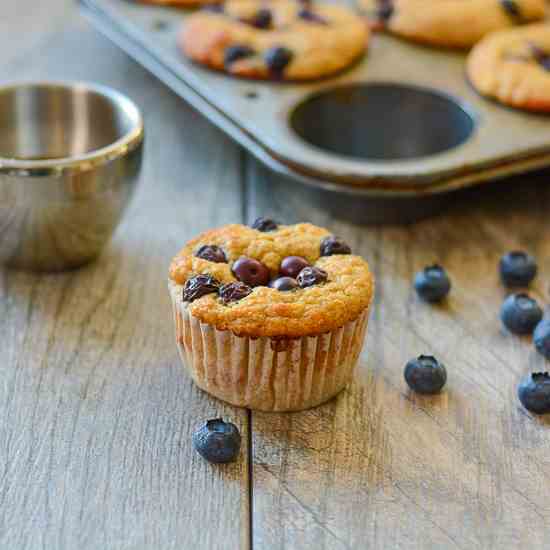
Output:
[[518,109],[550,112],[550,25],[487,36],[470,52],[467,73],[484,96]]

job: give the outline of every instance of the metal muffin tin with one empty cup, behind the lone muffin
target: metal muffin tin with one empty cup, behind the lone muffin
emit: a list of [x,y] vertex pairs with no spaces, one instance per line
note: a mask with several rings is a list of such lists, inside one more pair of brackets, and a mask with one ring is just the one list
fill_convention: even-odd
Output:
[[548,117],[479,97],[464,53],[375,34],[367,56],[335,78],[240,80],[180,55],[176,37],[191,11],[80,2],[109,38],[264,164],[344,200],[433,196],[550,165]]

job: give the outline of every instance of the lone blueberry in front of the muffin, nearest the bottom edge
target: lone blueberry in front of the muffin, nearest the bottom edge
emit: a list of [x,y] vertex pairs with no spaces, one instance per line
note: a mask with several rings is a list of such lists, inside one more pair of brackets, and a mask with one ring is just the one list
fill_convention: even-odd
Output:
[[193,433],[193,446],[208,462],[233,462],[239,455],[241,434],[231,422],[207,420]]

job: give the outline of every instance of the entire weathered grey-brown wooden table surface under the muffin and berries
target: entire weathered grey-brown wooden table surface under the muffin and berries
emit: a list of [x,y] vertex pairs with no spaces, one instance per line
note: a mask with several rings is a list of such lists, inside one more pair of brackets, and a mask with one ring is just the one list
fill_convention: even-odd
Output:
[[[496,273],[504,251],[528,249],[541,271],[532,293],[548,303],[548,176],[460,194],[414,226],[358,227],[279,195],[72,0],[4,2],[0,46],[3,79],[99,81],[134,98],[147,127],[142,185],[98,262],[64,275],[0,269],[0,548],[549,547],[550,422],[515,396],[548,365],[502,330]],[[258,215],[331,228],[377,277],[355,382],[308,412],[226,406],[176,356],[171,256],[199,231]],[[411,289],[433,261],[453,279],[445,307]],[[440,396],[406,389],[403,366],[420,353],[447,365]],[[191,433],[220,415],[244,445],[215,467]]]

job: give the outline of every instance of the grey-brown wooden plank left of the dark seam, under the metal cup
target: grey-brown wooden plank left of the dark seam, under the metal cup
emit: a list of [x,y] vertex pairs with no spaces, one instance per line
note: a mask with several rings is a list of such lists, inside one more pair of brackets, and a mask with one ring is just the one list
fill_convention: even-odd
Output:
[[[84,79],[127,93],[145,114],[146,158],[97,263],[59,276],[0,269],[0,548],[247,548],[247,414],[183,374],[166,289],[183,242],[241,219],[241,155],[84,24],[72,1],[47,4],[58,17],[42,15],[43,47],[12,60],[10,79]],[[0,43],[14,50],[27,20],[9,13]],[[191,447],[196,425],[217,416],[245,442],[225,467]]]

